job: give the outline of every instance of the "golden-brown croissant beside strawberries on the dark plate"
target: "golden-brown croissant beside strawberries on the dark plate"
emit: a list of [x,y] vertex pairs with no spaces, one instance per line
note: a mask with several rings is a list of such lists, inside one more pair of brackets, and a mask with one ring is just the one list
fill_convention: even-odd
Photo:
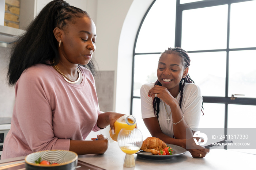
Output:
[[161,139],[155,138],[155,137],[148,137],[143,141],[142,147],[140,149],[145,152],[150,152],[151,149],[160,151],[166,147],[167,147],[166,143],[163,142]]

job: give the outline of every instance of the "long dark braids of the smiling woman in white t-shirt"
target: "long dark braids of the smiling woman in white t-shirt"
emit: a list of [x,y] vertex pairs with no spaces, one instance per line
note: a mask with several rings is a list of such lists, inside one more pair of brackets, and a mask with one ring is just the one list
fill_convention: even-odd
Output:
[[[190,58],[188,56],[188,53],[187,51],[181,49],[180,47],[176,47],[176,48],[168,48],[168,50],[165,50],[163,53],[161,53],[161,56],[162,54],[177,54],[181,57],[182,61],[182,65],[184,66],[184,68],[187,68],[188,66],[190,66]],[[160,57],[161,58],[161,57]],[[160,59],[159,58],[159,59]],[[180,105],[180,108],[181,108],[181,103],[182,103],[182,98],[183,98],[183,89],[184,89],[184,86],[185,86],[185,83],[195,83],[191,77],[189,76],[189,74],[187,74],[187,76],[185,78],[182,78],[181,81],[180,81],[180,101],[179,101],[179,105]],[[157,80],[155,82],[155,85],[159,85],[159,86],[162,86],[162,84]],[[159,117],[158,116],[158,113],[159,113],[159,104],[160,104],[160,98],[158,97],[155,97],[154,100],[153,100],[153,108],[154,108],[154,113],[155,113],[155,116],[157,116],[157,118]],[[202,104],[202,108],[203,108],[203,104]],[[203,112],[203,111],[202,111]]]

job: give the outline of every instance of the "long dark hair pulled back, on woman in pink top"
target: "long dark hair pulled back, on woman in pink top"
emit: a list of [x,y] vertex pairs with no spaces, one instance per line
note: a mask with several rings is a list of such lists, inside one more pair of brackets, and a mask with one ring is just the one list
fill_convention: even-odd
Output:
[[[52,58],[59,62],[58,44],[53,30],[59,27],[66,30],[69,23],[74,23],[75,18],[89,17],[86,11],[69,5],[63,0],[54,0],[48,3],[37,17],[29,24],[25,34],[17,39],[14,44],[8,65],[8,84],[15,85],[22,72],[35,64],[49,65]],[[86,66],[93,75],[96,74],[94,61]]]

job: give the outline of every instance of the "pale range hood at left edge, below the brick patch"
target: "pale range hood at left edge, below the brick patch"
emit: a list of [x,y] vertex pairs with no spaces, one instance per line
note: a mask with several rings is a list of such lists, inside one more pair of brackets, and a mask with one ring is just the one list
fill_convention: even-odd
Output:
[[0,43],[11,44],[24,32],[25,30],[0,25]]

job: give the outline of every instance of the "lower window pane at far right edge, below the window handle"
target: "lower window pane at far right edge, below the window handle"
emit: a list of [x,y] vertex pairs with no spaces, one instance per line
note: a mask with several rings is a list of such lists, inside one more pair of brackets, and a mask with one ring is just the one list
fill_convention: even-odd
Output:
[[228,128],[256,128],[256,106],[228,105]]

